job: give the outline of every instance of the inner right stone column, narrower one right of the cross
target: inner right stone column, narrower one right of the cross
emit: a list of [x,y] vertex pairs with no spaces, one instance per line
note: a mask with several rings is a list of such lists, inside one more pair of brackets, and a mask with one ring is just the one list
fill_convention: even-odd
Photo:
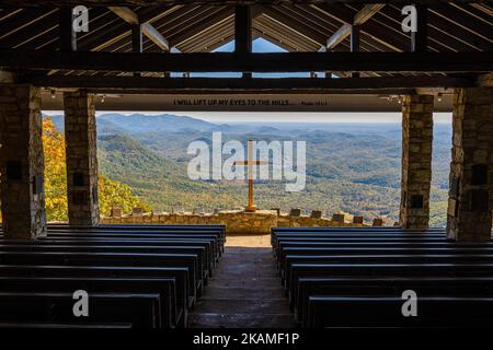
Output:
[[400,224],[404,229],[428,228],[433,102],[433,95],[410,95],[402,103]]

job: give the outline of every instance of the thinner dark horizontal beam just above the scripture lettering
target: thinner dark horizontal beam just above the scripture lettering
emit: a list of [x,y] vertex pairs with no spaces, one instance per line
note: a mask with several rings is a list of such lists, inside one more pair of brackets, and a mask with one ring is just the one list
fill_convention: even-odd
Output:
[[93,79],[91,77],[31,77],[23,82],[43,88],[80,88],[80,89],[121,89],[145,90],[161,92],[190,93],[191,90],[202,93],[211,92],[313,92],[324,93],[331,91],[365,90],[378,93],[382,89],[424,89],[424,88],[466,88],[475,86],[474,78],[452,77],[409,77],[401,78],[347,78],[347,79],[312,79],[312,78],[284,78],[284,79],[231,79],[231,78],[140,78],[140,77],[105,77]]

